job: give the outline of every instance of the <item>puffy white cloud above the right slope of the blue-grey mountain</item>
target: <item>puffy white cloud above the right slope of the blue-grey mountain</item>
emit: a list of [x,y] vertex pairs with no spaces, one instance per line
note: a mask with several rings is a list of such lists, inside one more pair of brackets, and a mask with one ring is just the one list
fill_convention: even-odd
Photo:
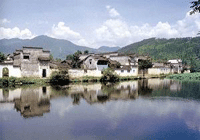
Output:
[[86,40],[80,33],[73,31],[70,27],[65,26],[64,22],[59,22],[58,25],[53,25],[51,32],[46,33],[48,36],[66,39],[78,45],[87,45]]

